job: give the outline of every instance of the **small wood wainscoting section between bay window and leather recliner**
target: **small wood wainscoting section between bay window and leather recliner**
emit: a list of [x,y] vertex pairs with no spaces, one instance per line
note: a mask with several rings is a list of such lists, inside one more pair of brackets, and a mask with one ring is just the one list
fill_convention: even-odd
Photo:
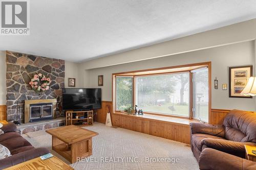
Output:
[[210,124],[212,125],[222,125],[224,118],[230,112],[230,110],[224,109],[211,109],[210,112]]

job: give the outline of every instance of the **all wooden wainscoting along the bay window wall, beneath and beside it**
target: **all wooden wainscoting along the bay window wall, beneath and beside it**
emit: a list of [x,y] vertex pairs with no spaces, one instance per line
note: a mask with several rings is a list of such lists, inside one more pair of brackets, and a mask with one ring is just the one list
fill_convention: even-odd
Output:
[[[112,102],[102,101],[101,109],[95,110],[95,121],[105,123],[106,113],[111,110],[112,125],[119,128],[129,129],[141,133],[146,133],[166,139],[171,139],[183,143],[190,143],[189,125],[165,122],[163,120],[134,117],[125,114],[113,113]],[[221,125],[230,110],[211,109],[210,124]]]

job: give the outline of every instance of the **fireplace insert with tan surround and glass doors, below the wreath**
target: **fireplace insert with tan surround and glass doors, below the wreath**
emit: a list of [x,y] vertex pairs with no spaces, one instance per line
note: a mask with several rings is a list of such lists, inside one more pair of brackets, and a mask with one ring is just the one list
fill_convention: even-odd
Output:
[[56,103],[56,99],[25,100],[24,123],[55,118]]

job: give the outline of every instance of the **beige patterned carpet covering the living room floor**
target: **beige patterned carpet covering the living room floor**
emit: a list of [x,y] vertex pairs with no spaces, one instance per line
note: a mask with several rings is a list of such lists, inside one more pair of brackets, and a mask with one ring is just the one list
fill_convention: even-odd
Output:
[[23,136],[34,147],[48,148],[53,155],[77,170],[199,169],[187,144],[122,128],[105,127],[100,123],[95,123],[94,126],[86,129],[99,133],[93,138],[93,155],[91,160],[73,164],[51,150],[51,135],[45,131],[32,132],[29,136],[26,134]]

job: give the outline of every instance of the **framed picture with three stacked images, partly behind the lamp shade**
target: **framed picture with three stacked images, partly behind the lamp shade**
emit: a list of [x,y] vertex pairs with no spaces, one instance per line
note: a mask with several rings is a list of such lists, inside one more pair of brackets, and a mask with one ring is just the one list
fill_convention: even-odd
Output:
[[241,94],[251,76],[252,65],[229,67],[229,98],[252,98]]

